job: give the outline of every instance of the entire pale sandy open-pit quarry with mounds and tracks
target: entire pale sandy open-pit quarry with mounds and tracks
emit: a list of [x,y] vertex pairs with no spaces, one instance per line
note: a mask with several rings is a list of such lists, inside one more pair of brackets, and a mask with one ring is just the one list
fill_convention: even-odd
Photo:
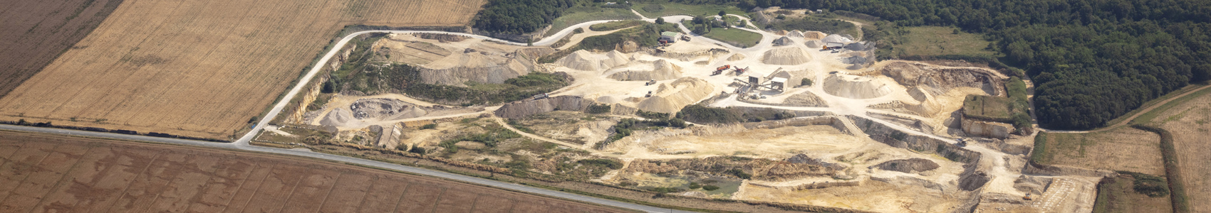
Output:
[[[877,61],[873,42],[850,35],[744,30],[762,41],[741,48],[688,35],[603,51],[368,38],[252,143],[435,161],[619,197],[626,189],[834,212],[1092,209],[1098,177],[1037,175],[1064,168],[1027,163],[1032,131],[964,116],[969,97],[1006,97],[1004,70]],[[391,71],[401,65],[412,71]],[[547,81],[559,87],[467,98]],[[407,92],[418,87],[472,92]]]

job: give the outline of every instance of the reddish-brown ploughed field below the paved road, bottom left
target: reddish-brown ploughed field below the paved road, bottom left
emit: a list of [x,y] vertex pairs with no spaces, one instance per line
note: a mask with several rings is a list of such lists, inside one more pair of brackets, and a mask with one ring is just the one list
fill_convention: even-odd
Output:
[[242,151],[0,132],[0,212],[624,212]]

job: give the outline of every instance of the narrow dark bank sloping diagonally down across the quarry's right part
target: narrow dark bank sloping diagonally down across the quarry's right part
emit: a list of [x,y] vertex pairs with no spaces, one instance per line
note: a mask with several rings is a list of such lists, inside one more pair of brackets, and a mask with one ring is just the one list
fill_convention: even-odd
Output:
[[959,148],[935,138],[901,132],[866,117],[846,115],[854,125],[861,128],[871,139],[895,148],[912,149],[926,154],[937,154],[955,162],[971,163],[980,161],[980,152]]

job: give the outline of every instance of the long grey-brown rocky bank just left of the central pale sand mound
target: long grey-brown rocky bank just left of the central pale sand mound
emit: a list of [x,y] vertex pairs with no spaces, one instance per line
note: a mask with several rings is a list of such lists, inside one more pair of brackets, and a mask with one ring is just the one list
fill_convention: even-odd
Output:
[[493,111],[493,114],[505,119],[522,119],[529,115],[555,110],[584,111],[589,108],[589,104],[592,103],[592,100],[576,96],[559,96],[536,100],[527,99],[507,103],[501,105],[500,109],[497,109],[497,111]]

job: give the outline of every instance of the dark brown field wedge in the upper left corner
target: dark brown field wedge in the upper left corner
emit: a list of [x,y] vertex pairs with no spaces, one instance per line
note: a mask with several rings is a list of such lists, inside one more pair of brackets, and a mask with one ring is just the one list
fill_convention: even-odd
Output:
[[122,0],[6,1],[0,8],[0,97],[97,28]]

